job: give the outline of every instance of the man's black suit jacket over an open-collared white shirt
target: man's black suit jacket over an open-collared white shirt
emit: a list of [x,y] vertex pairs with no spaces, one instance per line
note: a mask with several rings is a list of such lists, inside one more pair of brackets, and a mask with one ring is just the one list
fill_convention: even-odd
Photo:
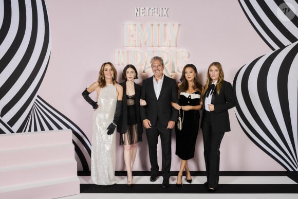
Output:
[[176,81],[163,75],[159,98],[156,98],[153,86],[153,76],[145,79],[142,85],[141,99],[146,100],[146,106],[140,106],[141,120],[148,119],[152,126],[166,127],[167,123],[177,121],[178,111],[171,102],[179,103]]

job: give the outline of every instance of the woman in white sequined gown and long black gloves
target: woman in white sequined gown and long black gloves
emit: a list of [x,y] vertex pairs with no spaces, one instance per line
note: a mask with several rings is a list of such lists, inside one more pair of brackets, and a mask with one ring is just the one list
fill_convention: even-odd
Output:
[[[101,66],[99,79],[86,88],[85,100],[95,108],[92,119],[91,179],[97,185],[113,185],[116,164],[116,123],[120,117],[123,88],[110,62]],[[97,103],[88,94],[97,92]],[[90,101],[91,100],[91,101]]]

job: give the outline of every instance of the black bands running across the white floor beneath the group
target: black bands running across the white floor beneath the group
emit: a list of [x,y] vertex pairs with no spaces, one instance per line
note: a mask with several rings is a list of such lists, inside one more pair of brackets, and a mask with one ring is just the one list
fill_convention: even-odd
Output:
[[[178,172],[171,172],[175,176]],[[125,176],[126,172],[117,171],[118,176]],[[84,175],[81,173],[81,175]],[[88,175],[88,174],[86,174]],[[134,171],[134,176],[150,176],[150,172]],[[192,176],[204,176],[205,172],[192,172]],[[214,193],[298,193],[298,172],[220,172],[220,176],[287,176],[297,184],[220,184]],[[134,184],[128,188],[125,184],[100,186],[81,184],[81,193],[208,193],[202,184],[184,184],[177,188],[171,184],[167,189],[161,189],[159,184]]]

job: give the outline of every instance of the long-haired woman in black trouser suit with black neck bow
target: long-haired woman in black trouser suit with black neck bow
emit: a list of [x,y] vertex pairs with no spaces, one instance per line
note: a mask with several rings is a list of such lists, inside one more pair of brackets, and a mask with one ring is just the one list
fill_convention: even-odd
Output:
[[235,106],[231,83],[224,80],[219,62],[210,64],[203,91],[201,128],[204,143],[207,182],[204,185],[214,192],[219,180],[219,147],[225,132],[231,131],[228,110]]

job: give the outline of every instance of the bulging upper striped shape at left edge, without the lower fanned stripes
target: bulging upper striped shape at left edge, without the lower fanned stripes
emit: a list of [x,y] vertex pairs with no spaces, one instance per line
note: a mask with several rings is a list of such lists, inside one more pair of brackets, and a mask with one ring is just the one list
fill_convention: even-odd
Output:
[[31,111],[45,75],[51,44],[48,23],[41,1],[4,1],[0,116],[15,132]]

